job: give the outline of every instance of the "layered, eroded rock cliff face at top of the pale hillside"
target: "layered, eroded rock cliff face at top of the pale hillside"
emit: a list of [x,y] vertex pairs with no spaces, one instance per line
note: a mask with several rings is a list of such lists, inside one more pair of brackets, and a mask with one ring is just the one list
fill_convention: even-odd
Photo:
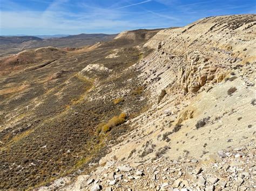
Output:
[[[142,63],[147,72],[142,75],[151,86],[158,86],[158,91],[169,86],[183,94],[198,93],[221,82],[237,65],[255,60],[255,18],[210,17],[158,32],[145,44],[160,48]],[[156,80],[156,76],[163,80]]]

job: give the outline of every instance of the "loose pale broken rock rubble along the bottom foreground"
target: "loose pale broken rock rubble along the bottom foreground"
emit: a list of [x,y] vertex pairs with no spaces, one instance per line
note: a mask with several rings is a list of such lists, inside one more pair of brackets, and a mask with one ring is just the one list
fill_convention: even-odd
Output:
[[[255,190],[254,143],[228,148],[206,160],[159,158],[145,163],[106,162],[91,175],[78,176],[62,190]],[[84,183],[86,182],[86,183]]]

